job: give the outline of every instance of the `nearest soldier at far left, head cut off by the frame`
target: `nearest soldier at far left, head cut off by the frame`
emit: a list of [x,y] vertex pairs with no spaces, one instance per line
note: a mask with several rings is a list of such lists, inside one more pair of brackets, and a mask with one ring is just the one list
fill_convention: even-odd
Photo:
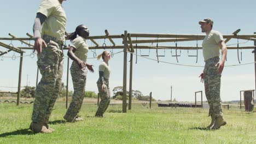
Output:
[[[37,85],[30,129],[35,133],[52,133],[48,121],[61,88],[66,14],[65,0],[43,0],[34,21],[34,49],[42,79]],[[42,26],[42,31],[41,30]]]

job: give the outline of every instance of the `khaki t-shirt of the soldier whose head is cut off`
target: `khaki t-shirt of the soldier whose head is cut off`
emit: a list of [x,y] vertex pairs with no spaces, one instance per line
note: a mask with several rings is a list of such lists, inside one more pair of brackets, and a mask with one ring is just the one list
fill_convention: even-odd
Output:
[[65,43],[66,14],[58,0],[43,0],[37,13],[47,17],[42,26],[42,35],[50,35]]

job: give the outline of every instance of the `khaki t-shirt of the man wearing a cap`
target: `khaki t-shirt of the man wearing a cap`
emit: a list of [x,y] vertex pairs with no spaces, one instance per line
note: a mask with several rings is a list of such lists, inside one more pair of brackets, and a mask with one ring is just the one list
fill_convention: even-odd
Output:
[[223,41],[223,36],[218,31],[211,30],[202,41],[203,57],[205,61],[210,58],[217,57],[219,53],[219,42]]

